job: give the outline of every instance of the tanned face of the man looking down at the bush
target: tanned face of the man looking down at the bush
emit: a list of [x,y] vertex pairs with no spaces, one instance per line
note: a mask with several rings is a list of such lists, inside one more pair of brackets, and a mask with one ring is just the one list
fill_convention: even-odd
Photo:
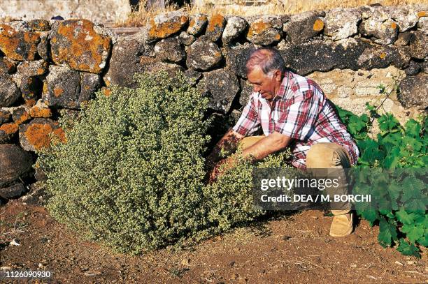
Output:
[[248,82],[252,84],[252,91],[259,92],[266,100],[272,100],[278,92],[281,83],[280,70],[265,74],[259,66],[252,68],[247,74]]

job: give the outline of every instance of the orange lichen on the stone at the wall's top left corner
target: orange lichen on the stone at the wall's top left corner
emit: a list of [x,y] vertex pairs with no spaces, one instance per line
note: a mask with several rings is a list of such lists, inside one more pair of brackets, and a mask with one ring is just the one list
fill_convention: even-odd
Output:
[[0,24],[0,50],[17,61],[33,61],[40,37],[32,31],[16,31],[8,24]]

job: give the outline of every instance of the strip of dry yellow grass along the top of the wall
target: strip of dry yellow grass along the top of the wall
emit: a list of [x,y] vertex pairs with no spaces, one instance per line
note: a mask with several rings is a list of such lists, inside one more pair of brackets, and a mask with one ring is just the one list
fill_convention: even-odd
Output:
[[[117,22],[117,27],[141,27],[144,26],[150,17],[159,13],[171,12],[175,10],[183,10],[183,12],[194,15],[204,13],[213,15],[220,13],[222,15],[293,15],[304,13],[311,10],[329,10],[331,8],[351,8],[364,5],[380,3],[382,6],[402,6],[408,4],[428,4],[428,0],[271,0],[266,1],[266,4],[260,6],[245,6],[243,3],[250,2],[248,0],[229,0],[229,1],[205,1],[204,6],[185,6],[178,8],[174,5],[169,5],[166,8],[155,8],[140,10],[131,13],[128,19],[124,22]],[[212,2],[212,3],[210,3]],[[145,1],[141,0],[140,6],[145,6]]]

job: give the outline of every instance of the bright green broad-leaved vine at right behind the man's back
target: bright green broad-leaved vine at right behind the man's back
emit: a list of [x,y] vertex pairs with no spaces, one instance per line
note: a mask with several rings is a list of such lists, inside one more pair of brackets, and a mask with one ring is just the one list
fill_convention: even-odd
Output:
[[[420,257],[418,245],[428,246],[428,191],[423,169],[428,164],[428,119],[409,119],[403,127],[392,114],[379,115],[372,105],[367,109],[370,116],[338,108],[361,151],[357,170],[364,175],[355,182],[353,193],[370,194],[373,199],[374,208],[357,204],[357,213],[372,226],[379,225],[382,246],[398,244],[397,250],[404,255]],[[376,140],[369,135],[374,119],[380,128]]]

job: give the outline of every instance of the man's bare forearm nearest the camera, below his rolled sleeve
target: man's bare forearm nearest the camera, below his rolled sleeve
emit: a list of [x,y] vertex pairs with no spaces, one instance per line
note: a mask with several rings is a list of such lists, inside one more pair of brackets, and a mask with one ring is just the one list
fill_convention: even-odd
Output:
[[253,156],[256,160],[261,160],[276,151],[284,149],[291,140],[292,138],[287,135],[273,132],[251,147],[243,150],[243,156]]

